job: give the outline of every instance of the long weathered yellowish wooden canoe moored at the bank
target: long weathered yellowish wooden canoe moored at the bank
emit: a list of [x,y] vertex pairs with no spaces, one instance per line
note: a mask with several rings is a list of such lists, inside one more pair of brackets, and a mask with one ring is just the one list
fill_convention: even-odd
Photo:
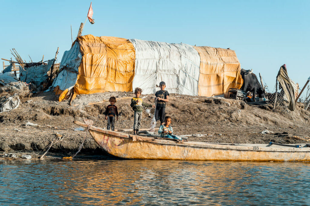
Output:
[[[310,161],[309,144],[225,144],[177,142],[114,132],[74,121],[106,152],[120,158],[153,160]],[[299,148],[298,148],[299,147]]]

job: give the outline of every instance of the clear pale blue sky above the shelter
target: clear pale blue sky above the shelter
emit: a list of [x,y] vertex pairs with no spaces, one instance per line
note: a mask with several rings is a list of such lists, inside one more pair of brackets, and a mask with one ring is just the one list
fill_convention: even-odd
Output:
[[[91,1],[3,1],[0,57],[15,48],[27,62],[60,63]],[[261,73],[273,91],[280,66],[302,88],[310,77],[310,1],[92,1],[95,24],[82,35],[185,43],[235,50],[241,68]],[[28,56],[29,55],[29,56]],[[2,61],[2,60],[1,60]],[[7,64],[7,62],[5,62]],[[0,71],[2,71],[2,65]]]

